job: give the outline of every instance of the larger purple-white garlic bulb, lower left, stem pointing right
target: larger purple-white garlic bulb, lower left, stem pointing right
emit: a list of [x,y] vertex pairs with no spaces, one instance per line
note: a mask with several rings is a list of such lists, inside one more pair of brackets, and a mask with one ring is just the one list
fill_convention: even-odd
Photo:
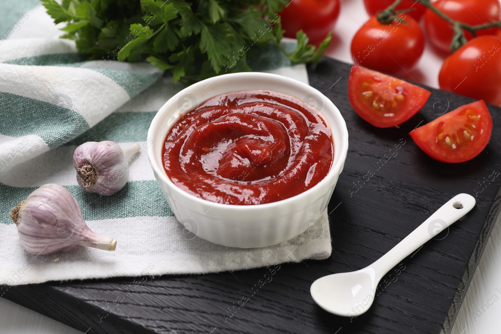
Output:
[[117,241],[99,235],[87,226],[72,194],[57,184],[46,184],[12,208],[25,249],[37,255],[72,250],[77,245],[115,250]]

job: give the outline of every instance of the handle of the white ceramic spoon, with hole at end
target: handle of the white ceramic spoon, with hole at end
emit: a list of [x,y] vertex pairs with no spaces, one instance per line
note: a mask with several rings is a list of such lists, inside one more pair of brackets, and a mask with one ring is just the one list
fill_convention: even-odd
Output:
[[380,280],[391,268],[426,241],[464,216],[475,206],[475,198],[468,194],[458,194],[442,205],[428,219],[407,235],[389,252],[371,264]]

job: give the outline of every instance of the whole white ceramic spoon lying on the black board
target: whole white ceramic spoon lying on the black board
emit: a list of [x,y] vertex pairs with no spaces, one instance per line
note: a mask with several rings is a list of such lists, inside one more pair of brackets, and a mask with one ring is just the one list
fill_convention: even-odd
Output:
[[473,206],[473,196],[459,194],[452,197],[376,262],[357,271],[332,274],[314,281],[310,288],[313,299],[320,307],[337,315],[357,316],[366,312],[374,301],[379,281],[391,268]]

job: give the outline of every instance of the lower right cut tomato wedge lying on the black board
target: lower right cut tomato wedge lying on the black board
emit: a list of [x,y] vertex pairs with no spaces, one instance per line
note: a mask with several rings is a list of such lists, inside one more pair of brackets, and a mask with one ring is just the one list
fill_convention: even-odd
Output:
[[457,163],[476,157],[487,146],[492,118],[483,100],[465,104],[410,133],[427,155]]

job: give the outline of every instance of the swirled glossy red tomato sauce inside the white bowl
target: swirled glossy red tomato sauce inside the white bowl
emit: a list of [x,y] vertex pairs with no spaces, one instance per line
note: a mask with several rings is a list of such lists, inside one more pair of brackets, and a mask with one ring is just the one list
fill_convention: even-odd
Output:
[[182,116],[163,150],[170,180],[223,204],[263,204],[310,189],[332,165],[327,121],[295,98],[272,91],[216,96]]

